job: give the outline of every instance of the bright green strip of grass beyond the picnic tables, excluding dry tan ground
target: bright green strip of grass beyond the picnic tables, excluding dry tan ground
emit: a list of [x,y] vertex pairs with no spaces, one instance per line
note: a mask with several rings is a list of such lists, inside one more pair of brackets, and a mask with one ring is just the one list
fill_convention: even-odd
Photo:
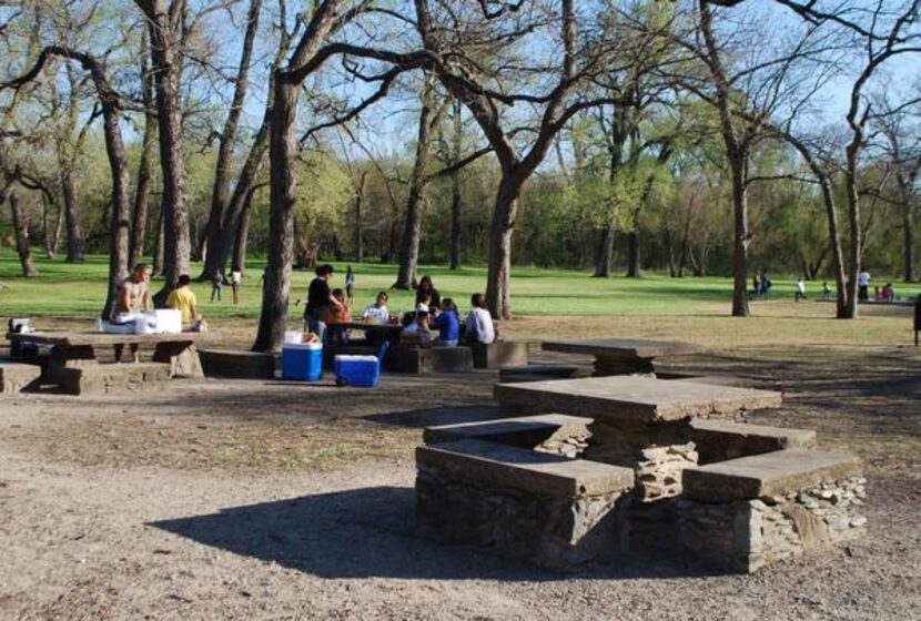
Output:
[[[40,276],[22,278],[16,254],[9,250],[0,251],[0,283],[8,287],[0,289],[0,314],[93,317],[105,298],[107,261],[101,255],[89,256],[80,264],[37,258]],[[346,264],[335,266],[337,273],[333,286],[342,286]],[[261,293],[257,282],[263,267],[261,261],[247,262],[240,306],[231,304],[229,287],[224,288],[223,302],[212,303],[211,285],[193,284],[201,312],[210,318],[256,318]],[[396,277],[395,265],[355,264],[353,268],[357,278],[356,308],[353,310],[357,312],[371,304],[379,289],[388,289],[392,312],[412,308],[412,292],[389,291]],[[200,264],[193,264],[192,276],[195,277],[200,269]],[[426,265],[421,268],[421,274],[431,275],[442,296],[455,298],[462,309],[469,306],[472,293],[485,288],[484,267],[452,272],[444,266]],[[312,276],[311,272],[294,272],[292,303],[305,297]],[[772,301],[792,299],[792,279],[778,278],[773,284]],[[808,287],[812,298],[819,295],[819,283],[809,283]],[[153,291],[156,288],[159,284],[154,281]],[[900,297],[913,297],[921,292],[921,286],[897,284],[895,291]],[[732,282],[719,277],[678,279],[647,274],[639,279],[623,276],[603,279],[591,278],[588,272],[529,267],[514,268],[512,277],[512,305],[516,316],[726,315],[731,293]],[[756,312],[759,304],[761,303],[755,304]],[[830,314],[831,304],[827,306]]]

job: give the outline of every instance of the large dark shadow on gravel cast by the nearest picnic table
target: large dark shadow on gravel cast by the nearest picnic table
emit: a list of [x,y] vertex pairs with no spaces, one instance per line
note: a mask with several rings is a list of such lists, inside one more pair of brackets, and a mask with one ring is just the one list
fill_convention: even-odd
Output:
[[148,526],[320,578],[556,581],[708,576],[661,559],[564,573],[480,548],[436,543],[416,537],[415,492],[402,487],[304,496]]

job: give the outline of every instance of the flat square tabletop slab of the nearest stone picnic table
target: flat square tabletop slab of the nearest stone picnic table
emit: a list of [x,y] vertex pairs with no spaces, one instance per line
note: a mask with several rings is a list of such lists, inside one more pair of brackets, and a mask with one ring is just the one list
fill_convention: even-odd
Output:
[[634,376],[498,384],[494,395],[503,405],[589,416],[603,424],[675,421],[781,401],[780,393],[768,390]]

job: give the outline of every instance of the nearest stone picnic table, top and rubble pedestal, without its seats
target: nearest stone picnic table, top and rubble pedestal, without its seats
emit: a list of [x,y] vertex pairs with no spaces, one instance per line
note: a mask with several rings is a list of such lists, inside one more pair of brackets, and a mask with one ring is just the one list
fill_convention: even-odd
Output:
[[585,457],[632,467],[646,501],[680,493],[681,470],[697,466],[695,418],[781,405],[780,393],[770,390],[627,375],[497,384],[494,394],[522,414],[591,418]]

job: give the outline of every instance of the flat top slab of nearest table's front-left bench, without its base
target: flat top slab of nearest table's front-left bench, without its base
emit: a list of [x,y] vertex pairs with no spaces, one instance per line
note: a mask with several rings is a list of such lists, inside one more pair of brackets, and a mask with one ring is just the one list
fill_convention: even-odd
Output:
[[623,491],[634,485],[629,468],[480,440],[418,447],[416,466],[455,469],[469,480],[560,499]]

